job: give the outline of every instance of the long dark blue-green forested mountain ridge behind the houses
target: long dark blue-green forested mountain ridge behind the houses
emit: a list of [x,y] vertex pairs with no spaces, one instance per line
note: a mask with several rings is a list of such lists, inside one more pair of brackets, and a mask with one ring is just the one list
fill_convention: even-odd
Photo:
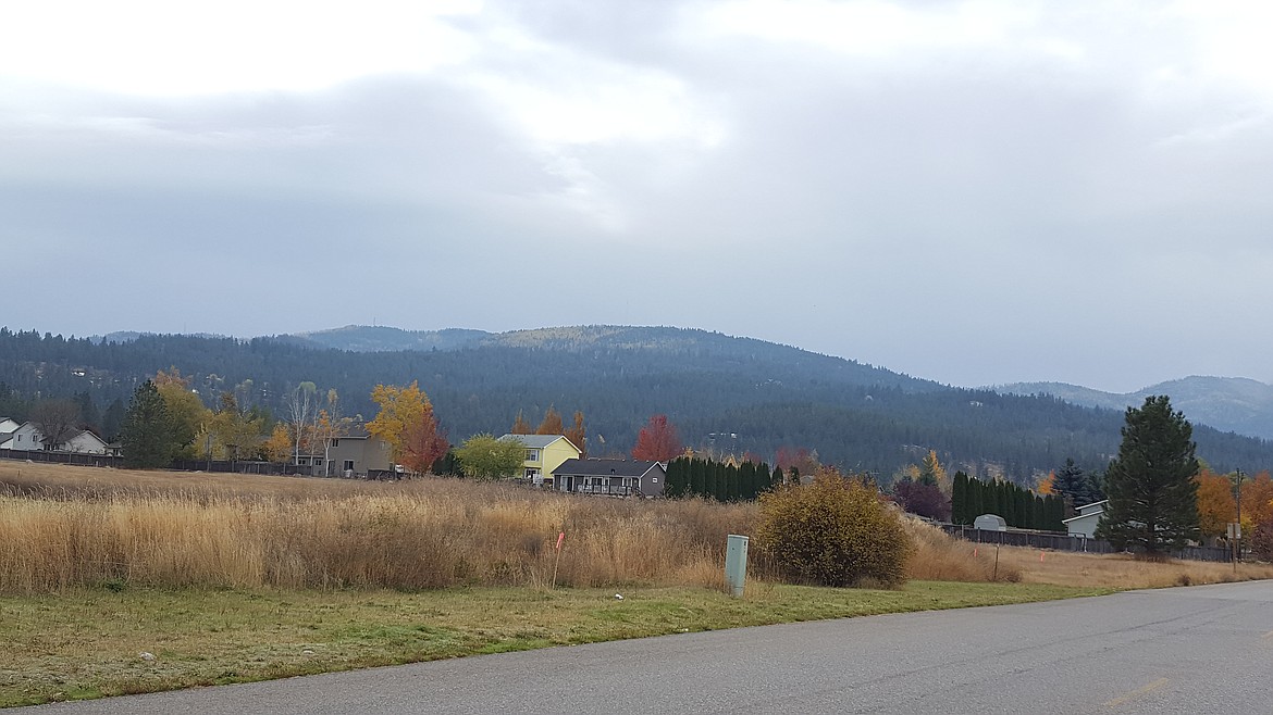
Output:
[[[0,330],[0,382],[11,391],[0,393],[0,412],[79,393],[99,406],[127,401],[141,380],[176,366],[209,406],[233,391],[244,407],[281,415],[286,392],[313,382],[339,391],[346,415],[370,419],[377,383],[419,380],[452,441],[504,433],[518,410],[536,421],[555,406],[584,412],[593,455],[625,454],[647,419],[666,413],[695,448],[768,459],[808,448],[883,480],[934,449],[947,466],[1029,482],[1067,457],[1102,468],[1119,443],[1120,411],[957,389],[752,338],[615,326],[474,333],[458,331],[462,345],[446,349],[353,352],[295,336],[97,344]],[[1195,438],[1217,469],[1273,466],[1267,441],[1200,425]]]

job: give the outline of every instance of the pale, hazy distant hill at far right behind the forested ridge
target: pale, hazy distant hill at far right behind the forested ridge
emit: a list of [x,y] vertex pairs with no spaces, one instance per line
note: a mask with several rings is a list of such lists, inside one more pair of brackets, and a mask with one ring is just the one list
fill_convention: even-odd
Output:
[[994,388],[1006,394],[1050,394],[1088,407],[1125,410],[1144,398],[1167,394],[1190,422],[1221,431],[1273,440],[1273,385],[1246,378],[1188,377],[1116,394],[1064,383],[1015,383]]

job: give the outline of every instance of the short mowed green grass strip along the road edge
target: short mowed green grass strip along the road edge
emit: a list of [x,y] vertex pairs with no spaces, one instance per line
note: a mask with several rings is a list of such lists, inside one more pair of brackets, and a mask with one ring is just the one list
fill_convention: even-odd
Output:
[[630,587],[619,589],[622,600],[615,593],[101,589],[0,597],[0,706],[1109,589],[913,581],[901,590],[752,584],[741,600],[693,588]]

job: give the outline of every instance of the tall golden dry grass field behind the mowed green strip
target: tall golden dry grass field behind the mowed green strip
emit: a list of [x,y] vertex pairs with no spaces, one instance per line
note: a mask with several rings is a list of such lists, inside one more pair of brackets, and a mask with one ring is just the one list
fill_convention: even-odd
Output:
[[[752,504],[580,499],[504,483],[135,472],[0,461],[0,593],[71,588],[717,588]],[[560,557],[554,548],[565,532]],[[1273,567],[993,548],[908,520],[914,580],[1157,588]],[[1040,555],[1043,559],[1040,559]],[[756,553],[751,575],[769,570]],[[554,580],[555,574],[555,580]]]

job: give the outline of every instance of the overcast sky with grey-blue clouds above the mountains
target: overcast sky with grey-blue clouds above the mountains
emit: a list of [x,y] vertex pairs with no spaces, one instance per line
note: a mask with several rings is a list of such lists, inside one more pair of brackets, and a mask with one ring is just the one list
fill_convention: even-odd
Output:
[[0,324],[1273,382],[1262,1],[11,3]]

